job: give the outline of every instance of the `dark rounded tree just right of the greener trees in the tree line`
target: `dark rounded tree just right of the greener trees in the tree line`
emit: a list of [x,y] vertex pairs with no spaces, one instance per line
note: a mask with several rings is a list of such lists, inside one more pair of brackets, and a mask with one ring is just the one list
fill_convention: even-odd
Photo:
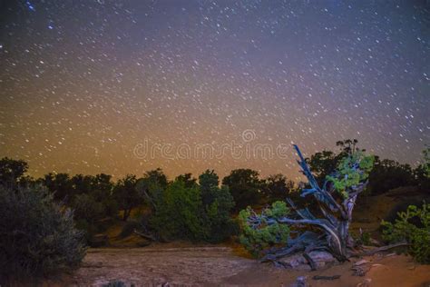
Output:
[[223,178],[222,184],[229,186],[237,211],[248,205],[257,204],[262,199],[262,181],[259,180],[257,171],[250,169],[233,170]]

